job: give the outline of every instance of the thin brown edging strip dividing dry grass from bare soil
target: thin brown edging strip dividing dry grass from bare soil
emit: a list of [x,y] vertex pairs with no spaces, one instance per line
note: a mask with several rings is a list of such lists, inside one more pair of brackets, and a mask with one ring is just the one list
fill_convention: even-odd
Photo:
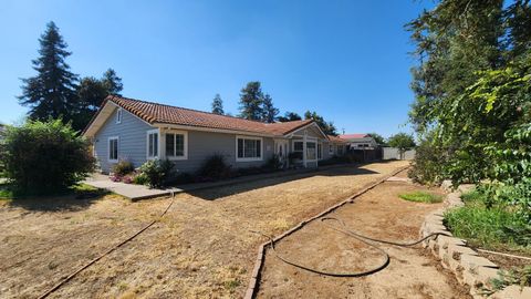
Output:
[[[281,240],[281,239],[288,237],[289,235],[295,233],[296,230],[301,229],[308,223],[313,221],[313,220],[315,220],[320,217],[323,217],[324,215],[337,209],[339,207],[344,206],[347,203],[353,203],[354,198],[365,194],[366,192],[368,192],[368,190],[373,189],[374,187],[378,186],[379,184],[386,182],[389,177],[393,177],[396,174],[398,174],[402,171],[405,171],[407,168],[409,168],[409,166],[399,167],[398,169],[392,172],[388,175],[385,175],[384,177],[379,178],[378,181],[376,181],[374,183],[369,183],[368,185],[365,185],[364,187],[362,187],[362,189],[356,192],[354,195],[348,196],[348,198],[331,206],[330,208],[319,213],[317,215],[315,215],[313,217],[310,217],[310,218],[306,218],[305,220],[302,220],[301,223],[299,223],[296,226],[292,227],[291,229],[280,234],[277,237],[273,237],[273,244],[278,243],[279,240]],[[261,244],[258,248],[258,255],[257,255],[257,259],[254,261],[254,268],[252,269],[252,272],[251,272],[251,279],[249,280],[249,285],[248,285],[246,295],[243,296],[244,299],[252,299],[257,296],[257,291],[258,291],[258,287],[259,287],[259,282],[260,282],[260,271],[262,270],[262,267],[263,267],[263,260],[266,258],[266,250],[270,245],[271,245],[271,243],[268,240],[268,241]]]

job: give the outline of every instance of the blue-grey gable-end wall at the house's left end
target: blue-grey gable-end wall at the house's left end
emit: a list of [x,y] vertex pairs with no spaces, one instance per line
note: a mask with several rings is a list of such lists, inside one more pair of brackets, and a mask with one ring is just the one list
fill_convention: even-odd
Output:
[[94,155],[101,169],[108,173],[114,163],[108,162],[108,137],[118,137],[118,159],[131,161],[135,167],[146,162],[146,132],[154,127],[123,110],[122,123],[116,123],[117,109],[94,135]]

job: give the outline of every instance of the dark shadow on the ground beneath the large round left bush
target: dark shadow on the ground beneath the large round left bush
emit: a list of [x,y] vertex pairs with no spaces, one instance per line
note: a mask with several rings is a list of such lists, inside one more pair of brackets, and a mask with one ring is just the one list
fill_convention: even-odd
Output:
[[110,192],[104,189],[74,190],[62,195],[21,196],[9,199],[9,206],[31,212],[76,212],[90,207]]

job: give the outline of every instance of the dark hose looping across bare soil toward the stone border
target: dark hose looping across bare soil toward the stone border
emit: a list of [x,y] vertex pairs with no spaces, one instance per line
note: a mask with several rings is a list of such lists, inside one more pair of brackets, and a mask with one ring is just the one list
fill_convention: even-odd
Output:
[[434,233],[434,234],[429,234],[428,236],[419,239],[419,240],[416,240],[416,241],[413,241],[413,243],[396,243],[396,241],[391,241],[391,240],[382,240],[382,239],[376,239],[376,238],[372,238],[372,237],[367,237],[367,236],[364,236],[364,235],[361,235],[361,234],[357,234],[353,230],[350,230],[346,228],[346,225],[345,223],[340,219],[340,218],[335,218],[335,217],[323,217],[321,218],[321,221],[324,223],[324,221],[329,221],[329,220],[334,220],[336,223],[340,223],[340,225],[342,227],[344,227],[343,229],[342,228],[337,228],[337,227],[334,227],[334,226],[331,226],[331,225],[325,225],[327,226],[329,228],[335,230],[335,231],[340,231],[340,233],[343,233],[350,237],[353,237],[366,245],[368,245],[369,247],[376,249],[377,251],[379,251],[383,256],[384,256],[384,260],[382,264],[379,264],[378,266],[372,268],[372,269],[368,269],[368,270],[364,270],[364,271],[358,271],[358,272],[329,272],[329,271],[324,271],[324,270],[320,270],[320,269],[315,269],[315,268],[311,268],[309,266],[304,266],[302,264],[299,264],[296,261],[292,261],[292,260],[289,260],[284,257],[282,257],[278,251],[277,249],[274,248],[274,241],[273,241],[273,238],[271,238],[271,236],[268,236],[261,231],[258,231],[258,230],[250,230],[251,233],[256,233],[256,234],[259,234],[259,235],[262,235],[264,237],[267,237],[269,239],[269,244],[271,245],[271,249],[273,250],[274,252],[274,256],[282,260],[283,262],[288,264],[288,265],[291,265],[293,267],[296,267],[296,268],[300,268],[300,269],[303,269],[303,270],[306,270],[306,271],[310,271],[310,272],[313,272],[313,274],[319,274],[319,275],[324,275],[324,276],[331,276],[331,277],[362,277],[362,276],[368,276],[368,275],[372,275],[372,274],[375,274],[375,272],[378,272],[383,269],[385,269],[387,267],[387,265],[389,265],[389,261],[391,261],[391,257],[382,248],[377,247],[376,245],[372,244],[371,241],[373,243],[382,243],[382,244],[387,244],[387,245],[393,245],[393,246],[399,246],[399,247],[410,247],[410,246],[415,246],[417,244],[420,244],[423,243],[424,240],[428,239],[428,238],[431,238],[431,237],[435,237],[437,238],[439,235],[441,236],[448,236],[446,234],[442,234],[442,233]]

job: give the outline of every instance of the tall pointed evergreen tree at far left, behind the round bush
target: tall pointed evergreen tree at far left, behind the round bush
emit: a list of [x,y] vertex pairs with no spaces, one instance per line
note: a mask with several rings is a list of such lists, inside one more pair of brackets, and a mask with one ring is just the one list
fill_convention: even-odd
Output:
[[22,79],[22,94],[18,96],[21,105],[29,106],[29,117],[46,121],[62,117],[72,120],[76,106],[75,94],[77,75],[70,72],[65,59],[72,53],[59,33],[54,22],[46,24],[45,32],[39,39],[40,56],[32,61],[35,76]]

